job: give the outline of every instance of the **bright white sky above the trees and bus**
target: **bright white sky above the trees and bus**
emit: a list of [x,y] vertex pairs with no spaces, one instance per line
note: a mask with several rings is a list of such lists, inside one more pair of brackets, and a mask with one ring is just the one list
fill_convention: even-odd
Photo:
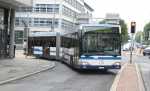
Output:
[[143,31],[150,22],[150,0],[85,0],[93,9],[93,17],[104,18],[106,13],[118,13],[128,24],[136,22],[136,30]]

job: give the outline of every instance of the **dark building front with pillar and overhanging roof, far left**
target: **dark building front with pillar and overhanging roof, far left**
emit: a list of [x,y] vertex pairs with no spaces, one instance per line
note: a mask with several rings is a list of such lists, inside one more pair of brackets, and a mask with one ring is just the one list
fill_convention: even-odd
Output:
[[32,0],[0,0],[0,58],[14,57],[15,9],[31,4]]

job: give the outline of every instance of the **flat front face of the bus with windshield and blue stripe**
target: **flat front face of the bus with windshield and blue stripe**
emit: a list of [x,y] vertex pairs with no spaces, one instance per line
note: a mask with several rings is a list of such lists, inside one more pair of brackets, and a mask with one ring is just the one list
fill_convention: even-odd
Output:
[[79,68],[106,70],[121,68],[119,25],[83,25],[80,37]]

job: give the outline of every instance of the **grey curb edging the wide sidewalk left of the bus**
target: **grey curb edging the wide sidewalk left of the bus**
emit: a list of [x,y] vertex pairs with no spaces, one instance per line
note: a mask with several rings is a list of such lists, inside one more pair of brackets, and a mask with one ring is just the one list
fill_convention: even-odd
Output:
[[43,69],[41,69],[39,71],[31,72],[29,74],[25,74],[25,75],[14,77],[14,78],[11,78],[11,79],[8,79],[8,80],[5,80],[5,81],[1,81],[0,85],[4,85],[4,84],[10,83],[12,81],[20,80],[20,79],[23,79],[23,78],[26,78],[26,77],[29,77],[29,76],[32,76],[32,75],[35,75],[35,74],[38,74],[38,73],[50,70],[50,69],[53,69],[55,66],[56,66],[55,63],[53,63],[51,67],[43,68]]

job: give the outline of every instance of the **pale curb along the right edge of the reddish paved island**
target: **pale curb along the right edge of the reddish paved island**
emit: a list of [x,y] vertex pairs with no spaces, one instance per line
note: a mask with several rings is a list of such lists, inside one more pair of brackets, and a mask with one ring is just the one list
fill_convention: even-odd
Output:
[[138,76],[139,89],[140,89],[140,91],[146,91],[145,86],[144,86],[144,81],[142,79],[142,74],[139,70],[139,67],[138,67],[137,63],[135,63],[135,67],[136,67],[136,72],[137,72],[137,76]]

